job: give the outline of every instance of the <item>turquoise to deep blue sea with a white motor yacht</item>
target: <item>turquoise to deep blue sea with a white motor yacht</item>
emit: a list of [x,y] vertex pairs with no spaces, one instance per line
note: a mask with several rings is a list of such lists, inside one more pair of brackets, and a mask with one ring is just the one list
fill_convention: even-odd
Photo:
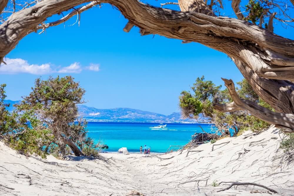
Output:
[[126,147],[129,152],[139,153],[140,146],[150,146],[151,153],[165,153],[170,145],[185,145],[194,133],[211,132],[211,124],[164,123],[168,130],[151,130],[159,123],[102,123],[89,122],[88,136],[95,143],[106,144],[104,152],[117,152]]

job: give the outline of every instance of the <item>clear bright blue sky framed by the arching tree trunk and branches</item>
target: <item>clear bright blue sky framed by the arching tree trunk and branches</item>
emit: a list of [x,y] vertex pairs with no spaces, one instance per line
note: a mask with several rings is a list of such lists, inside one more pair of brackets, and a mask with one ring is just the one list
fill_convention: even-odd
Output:
[[[159,3],[163,1],[153,2]],[[70,74],[86,90],[85,105],[168,115],[178,111],[178,96],[197,77],[204,75],[217,85],[223,85],[221,77],[233,81],[243,78],[230,58],[201,44],[141,36],[138,28],[125,33],[127,20],[108,4],[83,12],[79,27],[69,26],[75,20],[40,35],[29,34],[6,56],[6,61],[29,68],[26,73],[19,73],[19,67],[6,71],[0,68],[0,83],[7,84],[7,99],[28,95],[39,76],[46,79],[49,75]],[[294,39],[293,28],[286,30],[279,23],[274,27],[275,33]]]

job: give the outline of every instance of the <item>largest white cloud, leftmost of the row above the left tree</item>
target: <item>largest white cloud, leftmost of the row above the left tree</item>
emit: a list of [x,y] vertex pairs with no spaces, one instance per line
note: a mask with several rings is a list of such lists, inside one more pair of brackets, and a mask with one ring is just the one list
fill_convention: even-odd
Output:
[[31,74],[48,74],[52,73],[52,69],[49,63],[36,65],[29,64],[21,58],[6,58],[5,63],[0,65],[0,73],[31,73]]

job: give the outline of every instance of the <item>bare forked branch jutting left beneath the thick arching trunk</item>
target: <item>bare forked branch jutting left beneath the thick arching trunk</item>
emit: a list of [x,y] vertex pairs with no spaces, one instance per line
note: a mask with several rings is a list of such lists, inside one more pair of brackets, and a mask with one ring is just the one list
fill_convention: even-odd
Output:
[[225,86],[228,88],[230,96],[234,102],[214,105],[216,110],[220,112],[230,112],[239,108],[239,110],[248,111],[251,115],[270,124],[274,124],[276,127],[282,128],[286,132],[294,132],[294,114],[273,112],[250,100],[241,99],[235,91],[235,85],[233,81],[224,78],[222,78],[222,80],[225,82]]

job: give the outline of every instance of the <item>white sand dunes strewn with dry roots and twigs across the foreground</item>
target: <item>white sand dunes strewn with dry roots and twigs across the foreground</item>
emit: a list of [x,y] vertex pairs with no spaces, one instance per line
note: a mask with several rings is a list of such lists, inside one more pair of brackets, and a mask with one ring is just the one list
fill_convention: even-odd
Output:
[[[280,136],[275,128],[270,128],[246,139],[239,136],[219,140],[214,144],[230,143],[216,145],[213,151],[213,144],[203,144],[192,149],[203,151],[189,153],[188,157],[184,150],[181,155],[179,152],[147,156],[102,153],[101,160],[84,157],[58,160],[53,156],[47,160],[27,158],[0,142],[0,185],[8,187],[0,186],[0,194],[127,195],[136,190],[145,195],[271,195],[267,190],[251,185],[222,192],[216,191],[230,183],[211,186],[213,181],[238,181],[265,185],[278,191],[275,195],[294,195],[294,163],[286,167],[283,163],[281,168],[280,160],[272,161]],[[262,141],[251,143],[258,140]],[[244,149],[250,151],[238,157]],[[283,150],[279,150],[277,155],[282,153]],[[206,181],[199,182],[199,191],[197,182],[179,185],[206,179],[207,186]],[[250,193],[252,190],[262,193]]]

